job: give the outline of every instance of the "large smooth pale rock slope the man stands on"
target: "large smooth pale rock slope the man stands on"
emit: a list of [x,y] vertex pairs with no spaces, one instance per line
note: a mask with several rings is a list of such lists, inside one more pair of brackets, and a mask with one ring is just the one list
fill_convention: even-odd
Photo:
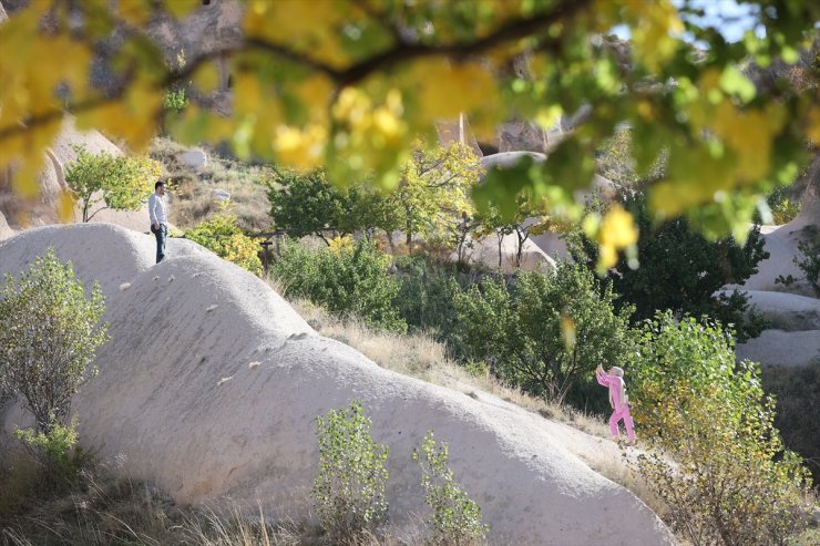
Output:
[[[99,351],[100,375],[73,403],[81,437],[177,501],[258,499],[269,516],[304,516],[318,462],[315,419],[357,398],[373,437],[390,445],[399,528],[426,514],[410,454],[432,429],[449,442],[492,544],[674,544],[640,501],[573,454],[608,451],[617,461],[614,446],[493,396],[383,370],[191,241],[170,239],[168,258],[153,265],[150,236],[112,225],[45,227],[0,243],[0,274],[18,274],[48,247],[106,295],[112,340]],[[8,431],[20,413],[7,406],[0,418]]]

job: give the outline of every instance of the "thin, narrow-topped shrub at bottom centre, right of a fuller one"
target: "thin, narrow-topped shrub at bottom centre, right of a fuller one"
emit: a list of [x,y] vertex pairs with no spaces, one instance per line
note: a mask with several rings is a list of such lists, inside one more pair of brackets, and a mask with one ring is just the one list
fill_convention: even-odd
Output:
[[449,467],[445,443],[438,444],[429,431],[413,461],[421,466],[424,502],[432,509],[429,525],[431,542],[441,545],[467,545],[483,540],[490,527],[481,523],[481,508],[455,482]]

